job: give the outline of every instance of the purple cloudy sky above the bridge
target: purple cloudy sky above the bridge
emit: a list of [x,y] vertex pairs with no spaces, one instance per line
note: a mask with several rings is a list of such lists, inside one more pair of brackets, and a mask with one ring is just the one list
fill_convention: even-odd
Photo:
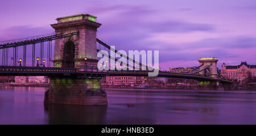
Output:
[[5,1],[0,41],[51,33],[60,16],[91,14],[97,36],[124,50],[159,50],[160,67],[198,66],[200,57],[256,64],[255,0]]

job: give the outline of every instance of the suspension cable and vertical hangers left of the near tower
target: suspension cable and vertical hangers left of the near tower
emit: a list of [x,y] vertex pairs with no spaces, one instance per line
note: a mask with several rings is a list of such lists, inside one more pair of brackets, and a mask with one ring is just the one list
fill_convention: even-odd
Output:
[[[71,33],[48,33],[46,35],[27,37],[23,39],[0,41],[0,58],[2,58],[2,66],[17,66],[23,62],[22,66],[30,65],[35,66],[36,60],[39,58],[39,63],[46,62],[47,67],[52,67],[52,53],[56,52],[55,45],[59,45],[59,39],[67,38],[70,36],[78,35],[79,32]],[[27,50],[27,48],[29,50]],[[53,48],[53,49],[52,49]],[[20,51],[21,50],[21,51]],[[31,51],[32,62],[27,61],[27,51]],[[38,51],[39,54],[38,54]],[[20,55],[23,52],[23,56]],[[27,63],[28,62],[28,63]]]

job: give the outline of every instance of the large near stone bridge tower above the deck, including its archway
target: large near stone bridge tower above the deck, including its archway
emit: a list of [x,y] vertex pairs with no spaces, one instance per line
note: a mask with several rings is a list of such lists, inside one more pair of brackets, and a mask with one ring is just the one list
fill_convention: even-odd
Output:
[[57,18],[57,23],[51,24],[56,35],[79,32],[78,35],[55,41],[54,67],[72,67],[84,71],[85,63],[97,66],[96,32],[101,24],[96,22],[96,18],[89,14],[79,14]]

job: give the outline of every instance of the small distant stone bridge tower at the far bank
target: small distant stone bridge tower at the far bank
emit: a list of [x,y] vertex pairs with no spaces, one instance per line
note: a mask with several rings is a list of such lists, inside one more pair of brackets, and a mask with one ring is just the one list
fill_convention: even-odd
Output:
[[[199,59],[199,63],[200,65],[204,64],[203,66],[200,67],[200,71],[205,69],[205,67],[209,66],[209,70],[210,70],[210,77],[212,78],[217,78],[217,58],[216,57],[207,57],[207,58],[200,58]],[[203,70],[200,72],[200,75],[205,76],[206,70]]]

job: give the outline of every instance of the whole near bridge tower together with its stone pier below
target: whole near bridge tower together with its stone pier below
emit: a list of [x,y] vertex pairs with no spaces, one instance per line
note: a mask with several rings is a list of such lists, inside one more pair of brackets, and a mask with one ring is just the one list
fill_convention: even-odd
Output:
[[[79,14],[57,18],[51,24],[56,35],[78,32],[78,35],[55,40],[54,67],[73,67],[77,71],[86,71],[85,65],[97,66],[96,32],[100,23],[89,14]],[[86,59],[85,59],[86,58]],[[45,103],[106,105],[106,92],[101,90],[101,77],[52,76],[49,89],[45,92]]]

